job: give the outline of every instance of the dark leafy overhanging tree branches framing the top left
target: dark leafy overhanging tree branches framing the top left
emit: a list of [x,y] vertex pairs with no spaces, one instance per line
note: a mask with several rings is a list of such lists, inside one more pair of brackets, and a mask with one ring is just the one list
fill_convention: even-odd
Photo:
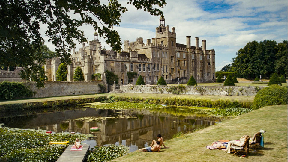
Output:
[[[165,0],[128,0],[128,3],[151,15],[162,15],[155,6],[166,4]],[[21,77],[36,81],[38,87],[44,87],[47,80],[41,68],[45,63],[40,52],[44,44],[42,28],[56,47],[56,56],[65,64],[71,61],[69,52],[75,48],[74,40],[87,42],[79,29],[82,24],[93,26],[100,37],[107,38],[113,50],[121,50],[121,39],[113,26],[120,24],[121,14],[128,10],[117,0],[109,0],[108,4],[101,4],[100,0],[7,0],[0,1],[0,6],[0,66],[23,67]],[[71,18],[71,13],[79,18]]]

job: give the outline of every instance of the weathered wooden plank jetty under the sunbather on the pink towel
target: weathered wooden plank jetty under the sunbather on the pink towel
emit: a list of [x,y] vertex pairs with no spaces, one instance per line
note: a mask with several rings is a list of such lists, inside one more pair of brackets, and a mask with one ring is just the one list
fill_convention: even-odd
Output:
[[70,151],[73,145],[69,145],[57,162],[83,162],[85,155],[87,154],[88,150],[90,149],[90,145],[86,144],[83,146],[82,150],[79,151]]

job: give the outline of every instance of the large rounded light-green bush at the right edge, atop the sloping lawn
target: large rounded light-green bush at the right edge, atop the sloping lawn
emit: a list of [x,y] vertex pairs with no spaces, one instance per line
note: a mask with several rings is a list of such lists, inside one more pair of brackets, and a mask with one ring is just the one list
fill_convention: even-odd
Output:
[[269,105],[287,104],[287,87],[273,84],[256,94],[253,102],[253,109],[262,108]]

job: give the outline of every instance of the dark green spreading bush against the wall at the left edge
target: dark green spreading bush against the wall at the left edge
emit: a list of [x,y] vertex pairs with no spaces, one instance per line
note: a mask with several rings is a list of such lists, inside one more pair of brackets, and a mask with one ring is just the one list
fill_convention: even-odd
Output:
[[20,82],[3,81],[0,83],[0,99],[11,100],[22,97],[32,97],[33,93],[29,87]]

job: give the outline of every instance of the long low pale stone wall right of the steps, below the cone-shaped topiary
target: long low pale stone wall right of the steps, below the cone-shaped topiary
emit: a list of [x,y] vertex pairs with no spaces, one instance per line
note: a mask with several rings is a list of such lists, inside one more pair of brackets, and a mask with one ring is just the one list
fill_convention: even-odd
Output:
[[[178,86],[128,86],[123,85],[122,91],[125,93],[163,93],[172,94],[173,88]],[[216,95],[216,96],[255,96],[256,93],[268,86],[182,86],[180,94],[189,95]],[[172,90],[172,92],[168,92]]]

